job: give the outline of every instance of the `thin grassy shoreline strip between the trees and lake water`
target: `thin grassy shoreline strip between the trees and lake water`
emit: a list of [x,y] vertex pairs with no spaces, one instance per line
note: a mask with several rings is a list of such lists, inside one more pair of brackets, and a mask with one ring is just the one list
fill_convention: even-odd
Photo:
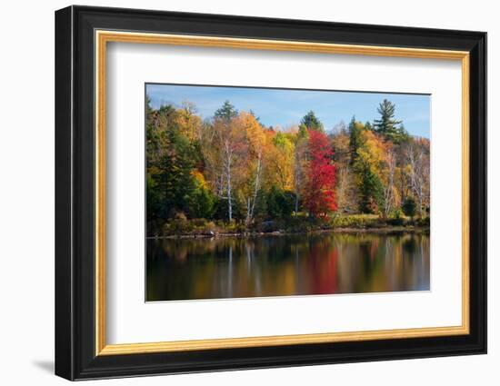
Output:
[[198,234],[172,234],[168,236],[146,236],[146,240],[163,239],[215,239],[223,237],[265,237],[265,236],[288,236],[294,234],[314,234],[314,233],[374,233],[374,234],[401,234],[401,233],[430,233],[428,226],[384,226],[384,227],[339,227],[330,229],[317,229],[308,232],[245,232],[245,233],[198,233]]

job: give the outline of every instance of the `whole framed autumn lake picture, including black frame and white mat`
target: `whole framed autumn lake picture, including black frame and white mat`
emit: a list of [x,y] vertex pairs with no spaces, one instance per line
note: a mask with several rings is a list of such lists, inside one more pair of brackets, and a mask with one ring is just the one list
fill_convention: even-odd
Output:
[[486,34],[55,13],[55,373],[486,352]]

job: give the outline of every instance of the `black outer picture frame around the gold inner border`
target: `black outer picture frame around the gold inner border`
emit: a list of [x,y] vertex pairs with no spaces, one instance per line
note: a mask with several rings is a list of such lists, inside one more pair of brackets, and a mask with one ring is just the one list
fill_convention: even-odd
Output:
[[[470,333],[95,355],[95,29],[470,53]],[[55,374],[68,380],[486,352],[486,34],[69,6],[55,12]]]

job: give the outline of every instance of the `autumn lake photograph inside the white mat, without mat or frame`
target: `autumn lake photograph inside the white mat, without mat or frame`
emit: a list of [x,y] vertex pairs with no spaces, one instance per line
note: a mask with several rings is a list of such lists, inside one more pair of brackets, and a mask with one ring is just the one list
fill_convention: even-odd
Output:
[[145,301],[430,291],[430,107],[145,84]]

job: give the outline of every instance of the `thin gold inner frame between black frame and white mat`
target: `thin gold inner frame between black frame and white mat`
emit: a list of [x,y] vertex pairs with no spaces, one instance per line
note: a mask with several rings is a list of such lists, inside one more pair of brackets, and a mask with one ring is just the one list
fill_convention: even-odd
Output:
[[[462,65],[462,324],[450,327],[328,332],[195,341],[107,344],[105,294],[105,112],[106,44],[109,42],[190,45],[255,50],[295,51],[322,54],[362,54],[425,59],[457,60]],[[296,41],[243,39],[232,37],[162,35],[133,32],[95,31],[95,355],[136,354],[165,351],[194,351],[290,344],[371,341],[437,337],[469,333],[469,53],[373,45],[336,45]]]

